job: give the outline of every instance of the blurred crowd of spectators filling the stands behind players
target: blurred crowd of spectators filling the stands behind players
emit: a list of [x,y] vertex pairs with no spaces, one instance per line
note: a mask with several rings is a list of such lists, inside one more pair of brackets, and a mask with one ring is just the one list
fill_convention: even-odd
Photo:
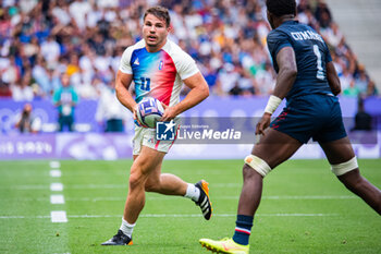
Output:
[[[112,88],[123,50],[140,39],[144,11],[170,9],[172,34],[197,60],[212,94],[269,95],[274,72],[267,50],[265,0],[2,0],[0,97],[53,97],[62,74],[79,98]],[[322,0],[299,0],[298,20],[329,44],[344,96],[377,95]],[[186,90],[184,90],[186,92]]]

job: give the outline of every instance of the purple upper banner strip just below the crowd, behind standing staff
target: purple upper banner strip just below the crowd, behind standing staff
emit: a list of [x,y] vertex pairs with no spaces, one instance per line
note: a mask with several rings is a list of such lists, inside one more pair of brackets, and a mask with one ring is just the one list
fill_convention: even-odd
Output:
[[[245,118],[261,117],[268,97],[210,97],[197,107],[184,112],[183,117],[211,117],[211,118]],[[344,118],[354,118],[357,112],[357,98],[341,97],[341,107]],[[2,135],[19,133],[15,128],[17,118],[22,112],[24,102],[12,99],[0,99],[0,131]],[[57,109],[50,100],[34,100],[30,102],[34,108],[34,117],[40,120],[41,133],[57,131]],[[82,100],[75,110],[75,130],[77,132],[103,132],[102,126],[96,121],[97,100]],[[381,98],[369,97],[364,101],[365,110],[371,116],[373,125],[381,129]],[[285,106],[285,101],[278,108],[276,116]],[[127,111],[127,109],[125,109]],[[125,133],[133,132],[133,119],[131,113],[125,121]],[[378,126],[377,126],[378,125]],[[255,129],[253,129],[254,131]]]

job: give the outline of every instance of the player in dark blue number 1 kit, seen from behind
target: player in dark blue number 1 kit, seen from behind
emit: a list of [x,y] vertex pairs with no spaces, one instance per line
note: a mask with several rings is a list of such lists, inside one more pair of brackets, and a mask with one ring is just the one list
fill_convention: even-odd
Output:
[[[341,85],[325,43],[311,27],[295,21],[295,0],[267,0],[266,5],[273,28],[268,47],[278,78],[256,128],[256,134],[262,136],[245,158],[234,235],[221,241],[199,240],[202,246],[220,253],[249,253],[263,178],[310,137],[319,142],[339,180],[381,215],[381,192],[360,176],[343,125],[335,97]],[[284,97],[286,107],[270,124],[271,114]]]

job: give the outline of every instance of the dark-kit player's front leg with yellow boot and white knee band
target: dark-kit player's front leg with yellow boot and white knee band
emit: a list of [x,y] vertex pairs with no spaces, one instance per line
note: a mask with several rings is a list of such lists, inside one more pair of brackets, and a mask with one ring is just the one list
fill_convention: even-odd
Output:
[[245,159],[243,168],[244,185],[242,188],[236,227],[233,239],[213,241],[200,239],[202,246],[211,251],[225,253],[248,253],[248,240],[253,227],[254,215],[262,194],[263,177],[271,169],[288,159],[303,143],[287,134],[268,129],[260,142],[254,146],[250,156]]

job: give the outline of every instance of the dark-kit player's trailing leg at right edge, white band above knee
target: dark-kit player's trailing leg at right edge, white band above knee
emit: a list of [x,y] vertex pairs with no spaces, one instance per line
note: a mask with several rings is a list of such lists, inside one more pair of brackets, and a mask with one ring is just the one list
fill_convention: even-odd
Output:
[[348,137],[319,144],[337,179],[381,215],[381,191],[361,177]]

